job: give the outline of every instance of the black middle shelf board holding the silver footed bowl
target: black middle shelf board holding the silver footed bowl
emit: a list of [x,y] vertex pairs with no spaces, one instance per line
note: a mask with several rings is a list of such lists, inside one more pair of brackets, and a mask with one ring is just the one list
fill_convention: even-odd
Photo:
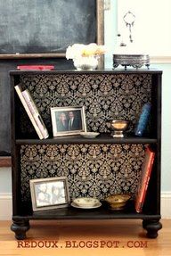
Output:
[[155,144],[156,138],[126,136],[114,138],[110,134],[101,134],[95,138],[83,136],[61,136],[46,139],[16,139],[16,145],[69,145],[69,144]]

